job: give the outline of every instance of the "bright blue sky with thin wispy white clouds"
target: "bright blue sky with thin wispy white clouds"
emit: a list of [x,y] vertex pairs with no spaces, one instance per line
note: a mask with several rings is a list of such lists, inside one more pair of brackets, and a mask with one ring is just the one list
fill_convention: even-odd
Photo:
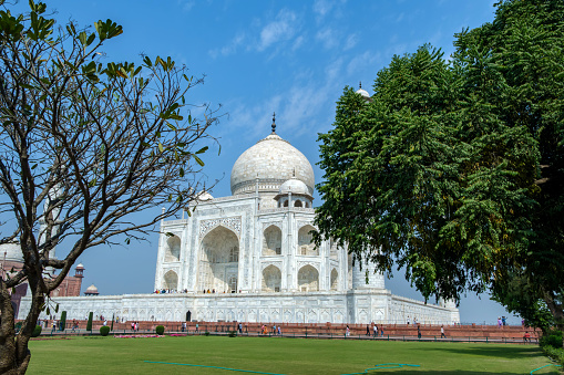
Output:
[[[455,32],[493,20],[493,2],[60,0],[48,7],[58,11],[59,24],[69,19],[81,25],[100,19],[122,24],[124,33],[103,48],[106,61],[170,55],[193,75],[206,75],[187,100],[222,105],[226,114],[212,129],[221,155],[216,147],[204,157],[207,178],[219,180],[213,195],[221,197],[230,195],[236,158],[268,135],[273,112],[278,135],[309,158],[319,183],[318,133],[331,128],[343,87],[358,87],[361,81],[371,93],[377,72],[393,54],[414,52],[424,43],[450,55]],[[83,290],[94,283],[102,294],[151,292],[155,259],[156,236],[147,243],[93,249],[80,259],[86,268]],[[418,298],[402,273],[387,285]],[[502,314],[503,308],[488,296],[461,302],[463,322],[493,323]]]

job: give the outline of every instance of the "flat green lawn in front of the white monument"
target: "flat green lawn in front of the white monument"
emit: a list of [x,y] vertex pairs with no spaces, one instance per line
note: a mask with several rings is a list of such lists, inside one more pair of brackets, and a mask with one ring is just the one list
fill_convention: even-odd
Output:
[[[29,374],[530,374],[548,364],[537,346],[280,337],[73,337],[33,341]],[[148,363],[165,362],[174,364]],[[550,366],[534,373],[558,374]]]

